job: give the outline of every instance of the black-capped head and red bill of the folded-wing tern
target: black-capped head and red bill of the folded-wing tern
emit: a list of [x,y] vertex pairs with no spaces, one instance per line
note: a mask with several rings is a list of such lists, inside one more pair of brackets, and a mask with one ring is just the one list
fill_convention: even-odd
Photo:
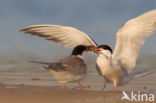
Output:
[[93,51],[94,46],[85,46],[85,45],[78,45],[74,48],[72,55],[83,55],[85,51]]

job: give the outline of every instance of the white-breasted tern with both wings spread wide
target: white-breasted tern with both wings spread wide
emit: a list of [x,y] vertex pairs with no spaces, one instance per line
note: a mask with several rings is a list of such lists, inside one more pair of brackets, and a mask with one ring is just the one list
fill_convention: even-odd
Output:
[[[117,32],[116,46],[112,53],[108,45],[98,45],[86,33],[73,27],[60,25],[32,25],[21,29],[25,33],[45,37],[73,48],[76,45],[94,45],[97,49],[97,70],[106,81],[117,85],[128,83],[134,77],[148,74],[148,70],[130,73],[135,67],[136,59],[145,39],[156,29],[156,10],[144,13],[127,21]],[[101,48],[101,49],[100,49]],[[106,83],[105,83],[106,84]],[[105,85],[106,86],[106,85]]]

